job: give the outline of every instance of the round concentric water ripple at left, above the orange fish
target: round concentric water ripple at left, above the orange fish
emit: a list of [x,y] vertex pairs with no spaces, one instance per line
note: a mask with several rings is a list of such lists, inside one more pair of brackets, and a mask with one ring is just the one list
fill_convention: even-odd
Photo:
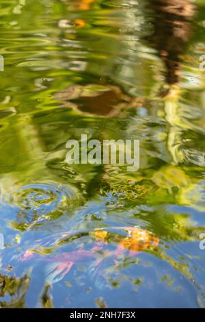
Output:
[[79,196],[71,186],[38,182],[10,188],[5,194],[1,190],[1,203],[16,210],[16,221],[12,221],[12,227],[24,229],[72,211],[79,204]]

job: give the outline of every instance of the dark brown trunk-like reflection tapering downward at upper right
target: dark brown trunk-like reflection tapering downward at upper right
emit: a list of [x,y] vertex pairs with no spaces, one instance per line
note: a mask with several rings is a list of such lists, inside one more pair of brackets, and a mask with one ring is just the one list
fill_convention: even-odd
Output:
[[195,16],[195,4],[189,0],[150,0],[148,8],[154,11],[152,47],[166,66],[166,82],[179,81],[180,55],[190,40]]

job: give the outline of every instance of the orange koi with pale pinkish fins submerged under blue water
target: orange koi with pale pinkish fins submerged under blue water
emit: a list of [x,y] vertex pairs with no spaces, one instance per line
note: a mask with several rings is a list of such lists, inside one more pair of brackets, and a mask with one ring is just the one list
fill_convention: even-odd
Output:
[[[126,236],[120,236],[119,234],[109,232],[109,230],[119,229],[125,232]],[[144,251],[148,248],[154,248],[159,245],[159,238],[154,236],[151,232],[139,227],[112,227],[107,230],[98,229],[91,232],[90,236],[94,238],[95,243],[92,249],[79,249],[77,251],[60,253],[51,258],[46,258],[46,261],[49,262],[45,269],[47,283],[54,284],[59,282],[70,271],[74,264],[88,258],[94,260],[94,263],[89,267],[89,273],[94,278],[98,277],[99,280],[99,276],[102,275],[102,270],[107,259],[115,262],[121,258],[126,251],[129,251],[130,256],[135,256],[139,251]],[[117,246],[113,251],[105,251],[102,256],[100,256],[99,251],[102,251],[105,249],[106,245],[109,245],[109,240],[112,240],[112,242],[117,244]],[[44,252],[44,254],[45,253],[46,252]],[[40,251],[27,249],[20,260],[30,260],[33,256],[39,255]]]

